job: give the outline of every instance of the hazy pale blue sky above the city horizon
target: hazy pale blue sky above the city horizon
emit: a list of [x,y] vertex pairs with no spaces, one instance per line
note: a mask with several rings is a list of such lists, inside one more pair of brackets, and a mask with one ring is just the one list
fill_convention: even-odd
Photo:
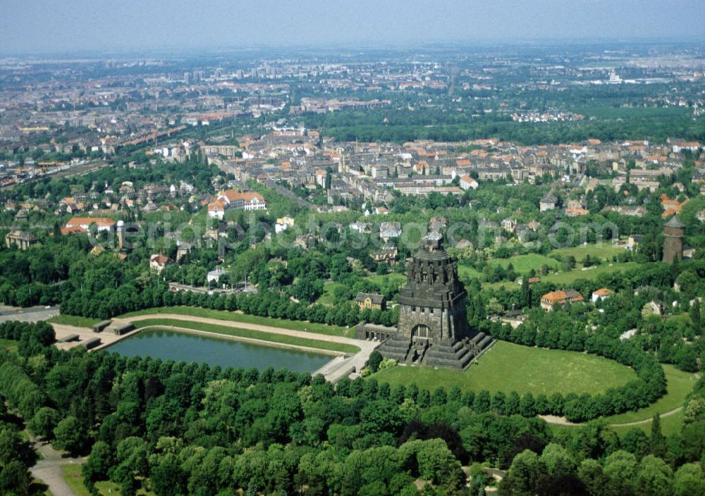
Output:
[[705,39],[704,0],[1,0],[0,51]]

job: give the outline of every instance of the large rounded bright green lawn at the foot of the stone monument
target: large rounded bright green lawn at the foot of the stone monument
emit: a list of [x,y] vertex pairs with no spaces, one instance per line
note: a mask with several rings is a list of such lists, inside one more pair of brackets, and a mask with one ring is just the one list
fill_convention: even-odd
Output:
[[498,341],[465,372],[445,368],[396,366],[373,374],[379,383],[415,382],[434,390],[457,385],[462,390],[491,392],[596,393],[635,379],[630,368],[601,356],[557,349],[531,348]]

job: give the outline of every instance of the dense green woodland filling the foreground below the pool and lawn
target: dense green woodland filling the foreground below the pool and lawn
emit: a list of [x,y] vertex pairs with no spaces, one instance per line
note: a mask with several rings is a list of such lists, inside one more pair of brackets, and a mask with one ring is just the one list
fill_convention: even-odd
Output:
[[5,494],[26,494],[29,484],[23,422],[55,447],[89,454],[88,488],[109,478],[123,495],[478,495],[491,479],[482,463],[508,469],[504,495],[705,488],[704,379],[687,399],[680,433],[666,438],[656,417],[650,436],[633,428],[620,439],[600,421],[553,433],[523,416],[523,397],[513,406],[510,397],[457,388],[362,378],[333,386],[271,368],[66,352],[47,346],[46,324],[0,330],[23,343],[0,355]]

